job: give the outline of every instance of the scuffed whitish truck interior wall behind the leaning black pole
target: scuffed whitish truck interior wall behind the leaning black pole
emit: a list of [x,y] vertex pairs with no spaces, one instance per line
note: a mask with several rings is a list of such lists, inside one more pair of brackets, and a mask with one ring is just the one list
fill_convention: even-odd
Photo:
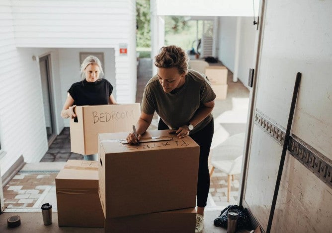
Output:
[[[332,1],[278,0],[265,1],[265,6],[253,109],[286,128],[301,72],[291,133],[331,161]],[[244,200],[264,230],[281,152],[253,125]],[[271,232],[331,232],[331,210],[331,188],[287,153]]]

